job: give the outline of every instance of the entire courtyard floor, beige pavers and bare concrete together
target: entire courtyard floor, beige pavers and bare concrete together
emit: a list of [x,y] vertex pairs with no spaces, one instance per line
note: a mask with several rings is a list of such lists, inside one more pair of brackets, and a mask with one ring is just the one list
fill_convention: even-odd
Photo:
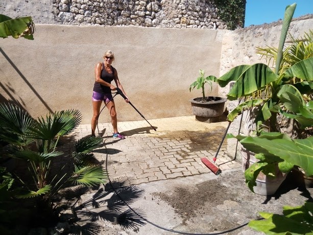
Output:
[[[273,196],[251,193],[240,162],[227,156],[224,140],[216,176],[200,160],[213,158],[227,122],[204,123],[195,116],[119,122],[126,139],[112,138],[110,123],[99,124],[105,145],[94,151],[111,184],[84,194],[77,215],[90,234],[262,234],[243,226],[259,211],[281,214],[283,205],[312,200],[287,177]],[[81,125],[75,139],[91,133]],[[108,154],[107,154],[108,153]],[[112,189],[112,186],[114,190]]]

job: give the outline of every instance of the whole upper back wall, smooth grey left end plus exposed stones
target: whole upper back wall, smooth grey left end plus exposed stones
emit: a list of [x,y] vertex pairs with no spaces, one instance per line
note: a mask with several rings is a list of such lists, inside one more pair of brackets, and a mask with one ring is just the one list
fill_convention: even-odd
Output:
[[226,29],[207,0],[4,0],[0,12],[31,15],[36,23]]

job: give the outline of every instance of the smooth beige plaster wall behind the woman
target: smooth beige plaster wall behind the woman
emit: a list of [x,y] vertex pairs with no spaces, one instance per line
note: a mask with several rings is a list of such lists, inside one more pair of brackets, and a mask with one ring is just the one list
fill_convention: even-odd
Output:
[[[34,40],[0,40],[2,100],[20,103],[34,117],[79,109],[88,124],[94,65],[109,49],[127,95],[146,119],[191,115],[188,100],[201,90],[190,93],[189,85],[200,68],[219,76],[225,32],[37,24]],[[214,86],[211,95],[217,93]],[[122,97],[115,103],[119,121],[142,120]],[[108,113],[101,115],[99,122],[108,121]]]

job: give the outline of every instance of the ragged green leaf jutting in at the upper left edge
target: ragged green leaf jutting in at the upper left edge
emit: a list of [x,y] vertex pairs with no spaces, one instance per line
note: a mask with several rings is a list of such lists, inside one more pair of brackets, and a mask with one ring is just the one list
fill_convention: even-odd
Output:
[[2,38],[12,36],[13,38],[25,37],[34,39],[34,28],[31,16],[12,19],[0,14],[0,37]]

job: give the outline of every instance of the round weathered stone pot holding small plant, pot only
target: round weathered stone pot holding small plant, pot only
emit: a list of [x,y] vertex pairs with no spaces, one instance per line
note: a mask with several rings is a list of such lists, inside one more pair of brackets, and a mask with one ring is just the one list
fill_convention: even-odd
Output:
[[192,113],[199,117],[216,117],[224,112],[224,105],[227,101],[222,97],[206,97],[207,102],[202,102],[202,97],[190,99]]

